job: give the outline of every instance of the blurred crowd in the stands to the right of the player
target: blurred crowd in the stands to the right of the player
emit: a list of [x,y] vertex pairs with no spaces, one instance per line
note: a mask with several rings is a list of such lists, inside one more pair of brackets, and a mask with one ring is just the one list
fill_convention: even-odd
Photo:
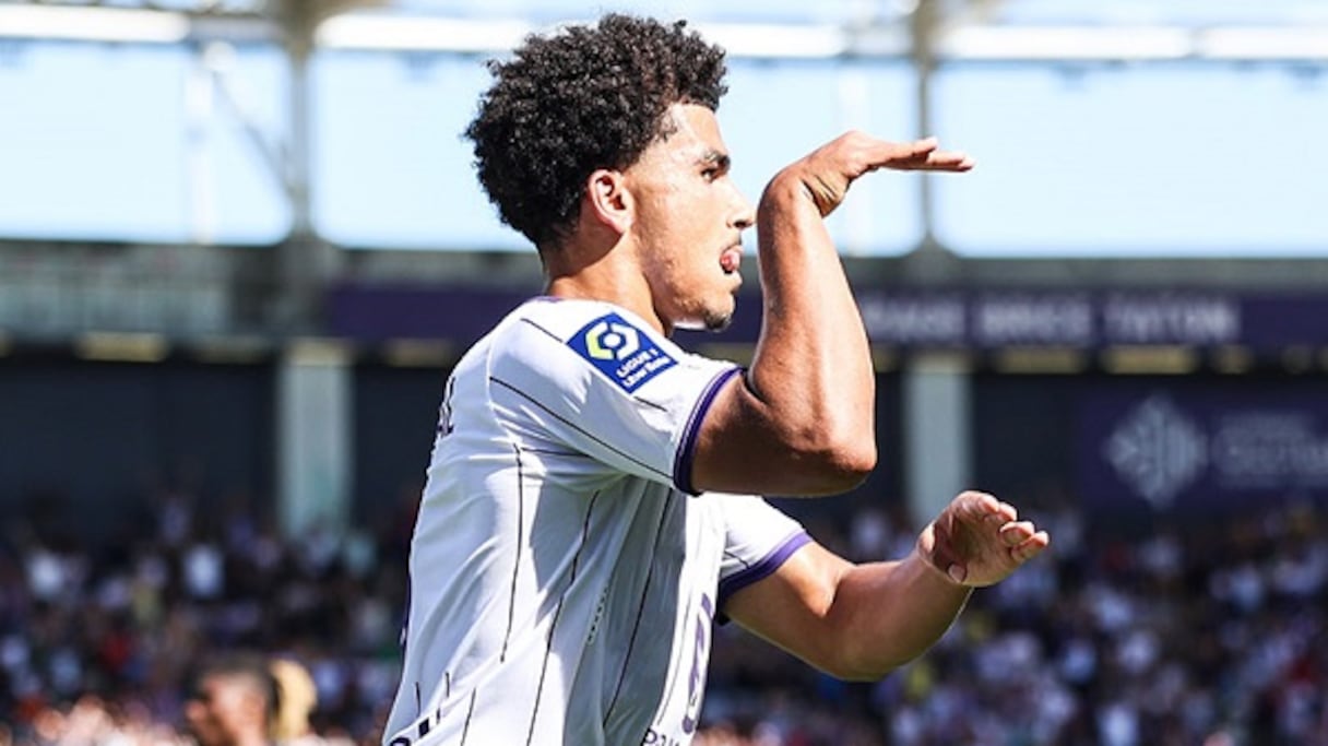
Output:
[[[817,674],[724,629],[701,746],[1328,746],[1328,512],[1174,516],[1052,551],[979,591],[926,656],[876,684]],[[814,534],[859,560],[915,530],[879,510]]]

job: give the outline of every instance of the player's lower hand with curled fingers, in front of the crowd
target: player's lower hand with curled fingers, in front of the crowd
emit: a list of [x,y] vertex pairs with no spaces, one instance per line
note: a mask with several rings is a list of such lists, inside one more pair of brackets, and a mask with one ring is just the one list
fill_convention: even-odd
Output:
[[918,536],[918,554],[971,588],[1004,580],[1048,547],[1050,538],[985,492],[961,492]]

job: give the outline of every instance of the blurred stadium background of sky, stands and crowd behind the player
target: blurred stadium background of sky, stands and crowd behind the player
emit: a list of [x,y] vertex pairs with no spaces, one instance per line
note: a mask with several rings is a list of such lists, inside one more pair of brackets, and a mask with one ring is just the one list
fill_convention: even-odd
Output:
[[[539,289],[459,130],[602,9],[729,48],[749,196],[847,127],[977,157],[834,216],[882,462],[785,504],[857,559],[968,486],[1054,538],[879,685],[725,628],[701,742],[1328,743],[1316,0],[0,3],[0,743],[167,742],[238,648],[372,742],[442,380]],[[680,341],[749,356],[754,291]]]

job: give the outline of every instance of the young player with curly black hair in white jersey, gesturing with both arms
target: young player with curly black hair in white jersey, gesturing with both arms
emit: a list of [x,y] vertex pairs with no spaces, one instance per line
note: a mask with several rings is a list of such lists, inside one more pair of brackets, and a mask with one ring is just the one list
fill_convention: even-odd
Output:
[[[879,678],[1046,547],[965,492],[910,556],[854,565],[754,496],[875,466],[867,338],[822,219],[869,171],[965,157],[850,133],[753,212],[714,117],[724,53],[683,24],[606,16],[491,70],[479,181],[548,287],[444,392],[384,743],[688,743],[717,616]],[[669,336],[728,324],[753,224],[765,316],[742,370]]]

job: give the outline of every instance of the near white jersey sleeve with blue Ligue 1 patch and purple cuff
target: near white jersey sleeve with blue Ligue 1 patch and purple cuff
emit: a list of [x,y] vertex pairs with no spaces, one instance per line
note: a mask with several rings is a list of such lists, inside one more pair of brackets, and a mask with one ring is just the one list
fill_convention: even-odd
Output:
[[696,494],[701,421],[741,369],[691,354],[611,305],[551,311],[515,319],[495,340],[495,414],[526,439]]

